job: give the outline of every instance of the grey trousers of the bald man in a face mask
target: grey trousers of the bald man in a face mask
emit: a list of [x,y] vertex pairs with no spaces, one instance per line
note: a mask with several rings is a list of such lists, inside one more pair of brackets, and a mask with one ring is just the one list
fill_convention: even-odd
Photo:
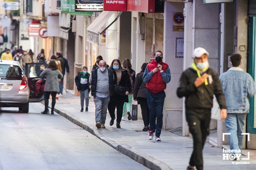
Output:
[[93,100],[95,104],[95,122],[101,122],[101,124],[105,124],[110,95],[104,98],[94,96]]

